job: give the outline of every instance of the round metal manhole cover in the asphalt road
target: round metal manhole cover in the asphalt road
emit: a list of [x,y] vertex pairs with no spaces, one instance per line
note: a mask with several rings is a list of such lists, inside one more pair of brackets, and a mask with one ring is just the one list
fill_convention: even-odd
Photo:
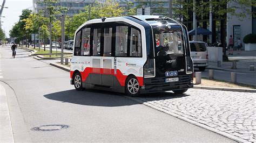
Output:
[[42,125],[31,128],[32,131],[57,131],[68,128],[68,125]]

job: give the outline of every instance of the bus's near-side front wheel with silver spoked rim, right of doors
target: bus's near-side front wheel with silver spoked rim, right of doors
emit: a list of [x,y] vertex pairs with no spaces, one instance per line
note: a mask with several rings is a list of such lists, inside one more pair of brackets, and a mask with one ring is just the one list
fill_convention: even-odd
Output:
[[125,94],[139,96],[139,81],[135,76],[129,76],[125,81]]

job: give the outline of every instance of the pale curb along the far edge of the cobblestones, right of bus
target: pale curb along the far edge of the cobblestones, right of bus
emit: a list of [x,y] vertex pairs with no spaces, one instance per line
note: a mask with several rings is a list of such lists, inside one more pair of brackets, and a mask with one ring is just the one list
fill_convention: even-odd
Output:
[[221,90],[221,91],[236,91],[236,92],[256,92],[256,89],[243,89],[243,88],[220,88],[220,87],[207,87],[201,85],[194,85],[194,89],[207,89],[207,90]]

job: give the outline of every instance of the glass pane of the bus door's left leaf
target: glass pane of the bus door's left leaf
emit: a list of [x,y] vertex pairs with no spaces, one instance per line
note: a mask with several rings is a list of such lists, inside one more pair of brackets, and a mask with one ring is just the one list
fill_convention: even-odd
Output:
[[100,33],[101,29],[94,29],[93,30],[93,45],[92,45],[92,55],[93,56],[99,56],[100,55]]

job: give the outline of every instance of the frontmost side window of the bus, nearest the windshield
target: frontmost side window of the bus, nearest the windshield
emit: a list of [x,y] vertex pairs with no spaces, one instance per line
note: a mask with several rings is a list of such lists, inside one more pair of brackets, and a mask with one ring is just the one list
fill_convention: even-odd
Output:
[[131,28],[130,35],[130,56],[141,57],[142,56],[142,40],[141,34],[138,30]]

